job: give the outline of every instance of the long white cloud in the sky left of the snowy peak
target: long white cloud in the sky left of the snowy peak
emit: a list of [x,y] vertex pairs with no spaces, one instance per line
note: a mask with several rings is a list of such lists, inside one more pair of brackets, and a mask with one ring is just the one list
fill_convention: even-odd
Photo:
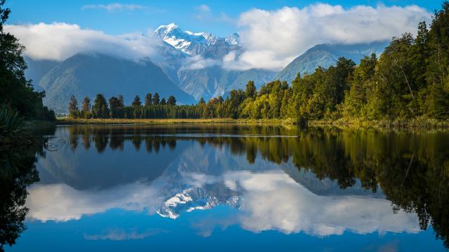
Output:
[[140,59],[154,52],[154,41],[137,33],[112,36],[66,23],[7,25],[4,28],[20,39],[26,48],[25,55],[33,59],[64,60],[79,52]]

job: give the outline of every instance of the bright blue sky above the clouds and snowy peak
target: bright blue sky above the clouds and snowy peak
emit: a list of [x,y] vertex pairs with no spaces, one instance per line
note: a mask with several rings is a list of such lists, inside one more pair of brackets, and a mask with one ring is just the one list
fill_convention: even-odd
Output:
[[[385,6],[408,6],[416,4],[433,13],[441,7],[443,1],[438,0],[323,0],[323,1],[34,1],[34,0],[7,0],[6,6],[11,8],[9,24],[23,25],[38,22],[65,22],[77,24],[83,29],[95,29],[105,31],[107,34],[124,34],[130,32],[146,33],[148,29],[155,29],[159,25],[175,22],[182,29],[192,31],[208,31],[219,36],[225,36],[237,31],[236,20],[239,15],[252,8],[263,10],[277,10],[283,6],[303,8],[312,3],[340,4],[344,8],[356,5],[377,6],[382,3]],[[108,5],[121,3],[123,5],[135,5],[142,8],[134,10],[108,11],[101,8],[86,8],[91,5]],[[200,6],[208,6],[208,10]],[[83,8],[83,6],[85,6]],[[92,6],[91,6],[92,7]]]

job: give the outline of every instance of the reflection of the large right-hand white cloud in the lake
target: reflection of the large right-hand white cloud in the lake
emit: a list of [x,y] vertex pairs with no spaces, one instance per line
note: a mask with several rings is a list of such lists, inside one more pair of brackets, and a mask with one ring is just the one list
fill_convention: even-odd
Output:
[[393,214],[388,200],[363,196],[319,196],[287,174],[234,174],[246,193],[239,223],[253,232],[279,230],[286,234],[342,235],[372,232],[420,232],[416,214]]

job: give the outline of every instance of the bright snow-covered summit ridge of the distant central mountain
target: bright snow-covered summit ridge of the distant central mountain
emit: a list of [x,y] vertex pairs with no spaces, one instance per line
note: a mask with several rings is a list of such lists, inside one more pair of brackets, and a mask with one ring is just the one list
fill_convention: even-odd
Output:
[[177,50],[190,56],[203,55],[204,52],[208,51],[210,46],[217,43],[229,47],[229,50],[235,50],[240,45],[239,34],[236,33],[231,34],[226,38],[219,38],[206,32],[183,31],[173,23],[158,27],[154,31],[154,36],[161,38]]

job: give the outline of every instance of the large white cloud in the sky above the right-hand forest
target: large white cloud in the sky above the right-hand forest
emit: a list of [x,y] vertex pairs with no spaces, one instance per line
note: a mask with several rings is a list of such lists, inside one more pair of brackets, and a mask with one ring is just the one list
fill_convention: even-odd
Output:
[[431,13],[418,6],[342,6],[253,9],[239,17],[244,52],[225,67],[280,69],[319,43],[369,43],[414,33]]

